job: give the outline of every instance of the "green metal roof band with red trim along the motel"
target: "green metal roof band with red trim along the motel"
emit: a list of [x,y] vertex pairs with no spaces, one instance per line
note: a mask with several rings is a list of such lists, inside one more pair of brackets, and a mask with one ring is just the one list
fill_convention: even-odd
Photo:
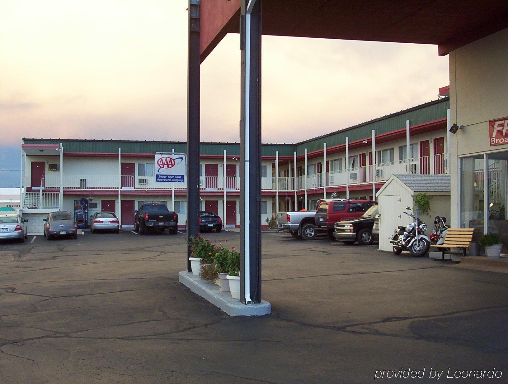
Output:
[[[446,117],[446,111],[450,107],[449,98],[430,101],[400,112],[392,113],[377,119],[358,124],[353,127],[345,128],[327,135],[315,137],[296,144],[263,144],[261,149],[262,156],[293,156],[294,151],[298,155],[307,152],[319,151],[323,149],[323,143],[327,146],[340,145],[345,143],[345,138],[350,141],[365,139],[371,136],[372,130],[376,134],[387,133],[401,128],[405,128],[406,120],[411,125],[431,122]],[[87,139],[27,139],[26,144],[58,144],[62,143],[65,152],[77,153],[118,153],[118,148],[122,153],[153,154],[156,152],[175,152],[185,153],[186,143],[184,141],[139,141],[139,140],[87,140]],[[202,142],[201,155],[223,155],[226,150],[229,156],[240,156],[240,144],[228,142]]]

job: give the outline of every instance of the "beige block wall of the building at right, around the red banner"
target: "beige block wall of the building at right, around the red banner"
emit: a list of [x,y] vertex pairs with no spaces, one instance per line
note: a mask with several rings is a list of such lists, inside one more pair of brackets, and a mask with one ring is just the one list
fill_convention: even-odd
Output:
[[451,224],[459,225],[459,157],[508,150],[490,146],[489,121],[508,116],[508,28],[450,52]]

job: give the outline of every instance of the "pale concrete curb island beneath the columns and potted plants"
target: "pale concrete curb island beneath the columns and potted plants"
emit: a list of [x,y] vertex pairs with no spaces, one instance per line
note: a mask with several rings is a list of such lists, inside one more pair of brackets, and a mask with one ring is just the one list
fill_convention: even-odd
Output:
[[238,299],[233,299],[230,292],[221,292],[217,284],[192,272],[178,272],[178,281],[230,316],[263,316],[272,311],[271,304],[264,300],[261,304],[244,305]]

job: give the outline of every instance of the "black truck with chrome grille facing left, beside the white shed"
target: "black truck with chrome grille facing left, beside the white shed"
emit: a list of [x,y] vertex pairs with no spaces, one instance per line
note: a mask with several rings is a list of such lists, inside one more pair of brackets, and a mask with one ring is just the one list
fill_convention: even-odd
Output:
[[372,233],[374,216],[377,215],[379,205],[372,205],[363,216],[343,220],[335,223],[333,237],[344,244],[371,245],[377,239],[377,234]]

